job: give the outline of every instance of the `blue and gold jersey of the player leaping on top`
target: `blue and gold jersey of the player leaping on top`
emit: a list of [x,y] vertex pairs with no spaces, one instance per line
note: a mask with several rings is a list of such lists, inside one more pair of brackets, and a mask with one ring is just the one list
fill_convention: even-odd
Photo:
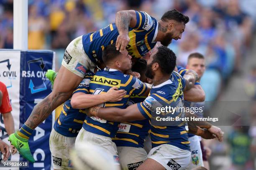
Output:
[[[127,45],[127,50],[132,57],[141,58],[156,45],[154,40],[158,31],[158,22],[147,13],[138,11],[136,11],[136,19],[135,28],[129,28],[130,42]],[[115,24],[83,35],[82,42],[85,53],[95,64],[101,63],[102,51],[106,46],[115,43],[118,35]]]

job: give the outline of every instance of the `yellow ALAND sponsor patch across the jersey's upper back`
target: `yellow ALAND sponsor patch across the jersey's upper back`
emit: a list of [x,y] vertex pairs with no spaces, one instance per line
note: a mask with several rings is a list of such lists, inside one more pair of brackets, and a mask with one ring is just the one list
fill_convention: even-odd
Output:
[[91,83],[119,88],[121,84],[121,80],[94,75],[91,80]]

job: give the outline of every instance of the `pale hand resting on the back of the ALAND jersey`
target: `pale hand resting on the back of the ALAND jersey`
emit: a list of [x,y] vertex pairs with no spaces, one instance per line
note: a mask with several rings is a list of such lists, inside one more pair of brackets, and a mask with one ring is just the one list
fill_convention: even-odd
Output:
[[108,102],[121,101],[126,93],[125,90],[118,90],[118,87],[111,87],[106,94],[107,100]]

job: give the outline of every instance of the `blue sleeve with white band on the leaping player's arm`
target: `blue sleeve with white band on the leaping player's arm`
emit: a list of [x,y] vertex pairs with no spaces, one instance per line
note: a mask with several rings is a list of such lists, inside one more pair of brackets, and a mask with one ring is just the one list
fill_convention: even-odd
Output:
[[154,27],[153,18],[143,11],[135,11],[136,12],[136,26],[135,30],[150,30]]

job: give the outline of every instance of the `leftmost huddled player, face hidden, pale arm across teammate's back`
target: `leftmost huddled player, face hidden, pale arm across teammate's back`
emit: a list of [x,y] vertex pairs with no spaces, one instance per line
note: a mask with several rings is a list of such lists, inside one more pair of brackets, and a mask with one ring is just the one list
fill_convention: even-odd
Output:
[[[108,101],[119,101],[126,94],[124,90],[116,90],[116,87],[110,88],[107,93],[99,95],[90,95],[89,83],[92,79],[94,70],[88,70],[84,79],[74,90],[72,96],[76,93],[83,92],[84,99],[90,100],[84,108],[101,104]],[[54,84],[56,72],[48,70],[46,77]],[[51,155],[53,157],[54,170],[72,169],[69,150],[74,147],[79,130],[86,117],[85,111],[82,109],[74,109],[71,105],[72,98],[64,102],[63,109],[54,123],[54,129],[51,131],[49,144]]]

